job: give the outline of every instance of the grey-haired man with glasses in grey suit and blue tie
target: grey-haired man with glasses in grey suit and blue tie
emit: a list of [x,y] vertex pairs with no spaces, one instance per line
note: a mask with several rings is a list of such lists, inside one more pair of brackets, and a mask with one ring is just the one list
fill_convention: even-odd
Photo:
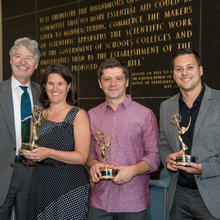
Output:
[[25,220],[26,200],[33,165],[19,155],[21,147],[20,86],[27,86],[31,106],[38,104],[38,84],[31,76],[38,67],[40,52],[35,40],[24,37],[10,49],[12,76],[0,83],[0,219],[10,219],[12,206],[16,220]]

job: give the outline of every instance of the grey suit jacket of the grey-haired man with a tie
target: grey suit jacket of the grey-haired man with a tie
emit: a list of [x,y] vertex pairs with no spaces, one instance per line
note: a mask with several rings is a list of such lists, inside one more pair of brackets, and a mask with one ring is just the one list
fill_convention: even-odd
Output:
[[[39,104],[39,85],[31,82],[34,104]],[[16,154],[11,78],[0,82],[0,206],[8,193]]]

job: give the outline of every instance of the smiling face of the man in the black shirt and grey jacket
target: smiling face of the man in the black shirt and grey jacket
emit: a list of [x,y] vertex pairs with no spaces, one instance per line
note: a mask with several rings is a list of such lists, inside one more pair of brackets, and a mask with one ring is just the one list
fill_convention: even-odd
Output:
[[180,55],[174,59],[173,78],[182,92],[201,90],[202,66],[193,54]]

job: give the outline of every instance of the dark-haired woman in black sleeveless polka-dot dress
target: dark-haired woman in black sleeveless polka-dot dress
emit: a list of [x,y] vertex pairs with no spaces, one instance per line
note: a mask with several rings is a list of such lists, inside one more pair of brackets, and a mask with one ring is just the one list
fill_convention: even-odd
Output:
[[41,82],[46,121],[37,128],[39,148],[24,153],[36,161],[28,220],[86,219],[91,189],[84,164],[91,134],[86,112],[74,106],[72,74],[62,64],[50,65]]

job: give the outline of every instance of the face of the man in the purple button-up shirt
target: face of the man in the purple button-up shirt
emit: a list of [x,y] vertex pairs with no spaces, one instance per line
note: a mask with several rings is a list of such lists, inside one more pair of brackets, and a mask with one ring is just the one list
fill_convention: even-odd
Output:
[[107,100],[123,102],[126,98],[128,79],[126,79],[122,68],[107,68],[103,70],[103,74],[99,80],[99,86],[105,93]]

